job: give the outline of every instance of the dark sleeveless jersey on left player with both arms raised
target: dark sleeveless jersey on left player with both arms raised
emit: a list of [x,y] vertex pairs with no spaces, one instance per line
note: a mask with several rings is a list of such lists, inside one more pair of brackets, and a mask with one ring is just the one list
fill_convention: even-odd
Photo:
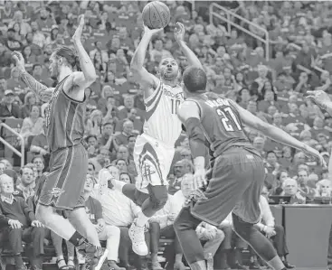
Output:
[[45,111],[47,142],[51,152],[81,144],[84,135],[85,102],[73,100],[63,91],[62,79]]

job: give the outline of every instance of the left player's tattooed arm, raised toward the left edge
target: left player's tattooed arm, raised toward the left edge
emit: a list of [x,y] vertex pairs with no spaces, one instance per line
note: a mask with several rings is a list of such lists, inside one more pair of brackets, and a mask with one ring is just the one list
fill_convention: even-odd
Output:
[[18,70],[20,70],[21,78],[27,87],[32,89],[38,98],[42,99],[44,102],[49,101],[52,97],[52,88],[44,86],[25,70],[25,61],[21,52],[14,51],[13,58],[15,61],[15,66]]

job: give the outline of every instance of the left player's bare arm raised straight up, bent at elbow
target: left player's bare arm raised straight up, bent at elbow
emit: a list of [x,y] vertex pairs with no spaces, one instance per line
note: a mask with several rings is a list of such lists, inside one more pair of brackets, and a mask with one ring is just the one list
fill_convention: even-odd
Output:
[[79,17],[79,26],[72,36],[72,42],[79,55],[81,65],[81,72],[73,74],[73,84],[81,88],[81,90],[89,87],[97,79],[96,70],[90,60],[90,56],[81,43],[81,33],[83,32],[84,24],[84,15],[81,15]]

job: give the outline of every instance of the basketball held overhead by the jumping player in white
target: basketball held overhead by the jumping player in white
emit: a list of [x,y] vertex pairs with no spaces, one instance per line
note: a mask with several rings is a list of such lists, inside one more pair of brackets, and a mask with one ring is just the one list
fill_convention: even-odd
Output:
[[160,1],[153,1],[144,7],[142,18],[149,29],[164,28],[171,19],[171,13],[167,5]]

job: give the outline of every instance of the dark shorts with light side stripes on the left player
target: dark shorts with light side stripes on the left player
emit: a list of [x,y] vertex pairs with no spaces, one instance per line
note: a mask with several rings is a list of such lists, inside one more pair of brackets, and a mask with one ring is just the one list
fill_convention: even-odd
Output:
[[82,144],[63,148],[51,154],[50,172],[38,183],[38,203],[55,209],[84,207],[84,183],[88,171],[88,153]]

